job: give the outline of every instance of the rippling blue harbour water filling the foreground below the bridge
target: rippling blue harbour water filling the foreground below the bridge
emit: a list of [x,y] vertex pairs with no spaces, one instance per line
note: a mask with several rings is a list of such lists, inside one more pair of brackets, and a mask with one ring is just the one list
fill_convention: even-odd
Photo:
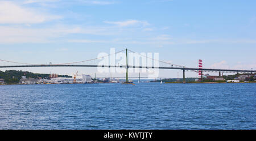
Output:
[[256,84],[0,86],[0,129],[256,129]]

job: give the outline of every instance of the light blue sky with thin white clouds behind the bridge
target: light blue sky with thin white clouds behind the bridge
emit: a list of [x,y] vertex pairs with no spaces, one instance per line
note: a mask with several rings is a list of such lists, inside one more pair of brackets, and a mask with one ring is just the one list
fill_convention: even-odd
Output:
[[[101,52],[110,53],[110,48],[128,48],[159,53],[160,60],[187,67],[198,67],[198,59],[203,59],[204,68],[255,70],[255,6],[254,0],[0,1],[0,59],[67,63],[97,58]],[[80,67],[14,69],[123,75]],[[160,70],[159,76],[176,78],[181,74],[179,70]]]

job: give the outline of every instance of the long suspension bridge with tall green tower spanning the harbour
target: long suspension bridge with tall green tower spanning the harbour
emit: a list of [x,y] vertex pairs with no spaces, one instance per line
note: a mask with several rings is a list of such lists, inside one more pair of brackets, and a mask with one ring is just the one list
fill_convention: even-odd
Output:
[[[97,59],[102,59],[105,57],[110,57],[110,55],[118,54],[118,53],[123,53],[125,52],[126,54],[126,65],[95,65],[95,64],[86,64],[86,65],[81,65],[80,63],[85,63],[85,62],[92,62],[96,61]],[[141,57],[145,57],[147,59],[151,59],[152,61],[158,61],[159,63],[163,63],[164,66],[134,66],[134,65],[129,65],[128,64],[128,52],[138,54]],[[4,62],[4,65],[1,65],[1,62]],[[8,63],[8,65],[6,65]],[[147,57],[146,55],[142,55],[136,52],[133,52],[132,50],[129,49],[124,49],[119,52],[115,52],[113,54],[108,54],[103,57],[98,57],[94,59],[87,59],[85,61],[79,61],[79,62],[69,62],[69,63],[58,63],[58,64],[33,64],[33,63],[21,63],[21,62],[14,62],[14,61],[7,61],[0,59],[0,68],[11,68],[11,67],[109,67],[109,68],[125,68],[126,69],[126,83],[128,83],[128,69],[129,68],[137,68],[137,69],[167,69],[167,70],[182,70],[183,71],[183,82],[185,83],[185,71],[194,71],[196,73],[201,74],[201,80],[203,80],[203,72],[228,72],[228,73],[254,73],[256,70],[236,70],[236,69],[203,69],[203,68],[192,68],[192,67],[185,67],[181,65],[175,65],[173,63],[169,63],[166,61],[160,61],[155,58],[150,58]],[[200,72],[199,72],[200,71]]]

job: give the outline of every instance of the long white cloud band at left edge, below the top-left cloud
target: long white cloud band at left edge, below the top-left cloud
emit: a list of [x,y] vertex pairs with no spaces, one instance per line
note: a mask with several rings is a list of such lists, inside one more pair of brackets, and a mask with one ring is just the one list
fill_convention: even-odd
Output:
[[55,25],[47,28],[0,26],[0,43],[52,42],[72,33],[105,35],[104,28],[81,28],[72,25]]

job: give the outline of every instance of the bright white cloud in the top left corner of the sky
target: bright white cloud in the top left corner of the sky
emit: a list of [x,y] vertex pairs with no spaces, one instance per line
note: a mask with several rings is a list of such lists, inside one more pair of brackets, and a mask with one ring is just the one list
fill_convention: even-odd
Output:
[[61,16],[43,14],[14,2],[0,2],[0,24],[35,24],[60,18]]

